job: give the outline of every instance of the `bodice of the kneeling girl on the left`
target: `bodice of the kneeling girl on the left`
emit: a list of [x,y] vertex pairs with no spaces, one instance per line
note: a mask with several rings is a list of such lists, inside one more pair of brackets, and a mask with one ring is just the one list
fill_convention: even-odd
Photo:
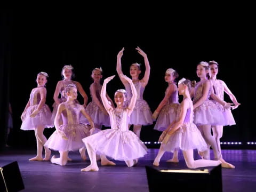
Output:
[[65,105],[65,110],[63,110],[61,113],[63,124],[79,124],[79,114],[81,105],[77,103],[63,103],[63,105]]

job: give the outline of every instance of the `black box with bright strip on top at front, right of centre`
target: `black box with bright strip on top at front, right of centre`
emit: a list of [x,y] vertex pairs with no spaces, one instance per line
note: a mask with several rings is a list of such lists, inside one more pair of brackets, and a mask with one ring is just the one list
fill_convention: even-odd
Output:
[[173,186],[177,186],[179,191],[222,191],[221,165],[181,170],[146,166],[146,173],[150,192],[166,191]]

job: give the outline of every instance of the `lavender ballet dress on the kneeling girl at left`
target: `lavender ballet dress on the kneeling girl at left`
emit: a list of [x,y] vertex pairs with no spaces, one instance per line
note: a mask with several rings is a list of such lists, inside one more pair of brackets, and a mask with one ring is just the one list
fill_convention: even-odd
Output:
[[59,130],[64,132],[66,137],[56,130],[44,146],[56,151],[76,151],[84,147],[82,139],[90,135],[89,126],[79,123],[79,113],[83,106],[77,103],[62,105],[65,105],[65,109],[61,113],[63,124]]

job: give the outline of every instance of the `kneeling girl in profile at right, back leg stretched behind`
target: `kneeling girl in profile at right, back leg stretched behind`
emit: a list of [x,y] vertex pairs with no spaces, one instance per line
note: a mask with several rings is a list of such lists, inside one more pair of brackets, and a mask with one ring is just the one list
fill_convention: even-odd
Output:
[[189,93],[190,81],[182,78],[178,86],[179,94],[183,95],[183,101],[178,108],[176,121],[171,123],[159,138],[162,144],[153,165],[159,166],[160,159],[165,151],[173,152],[176,149],[181,149],[188,168],[194,169],[197,167],[217,166],[219,164],[222,167],[231,168],[230,164],[226,162],[222,163],[220,160],[194,160],[193,149],[204,151],[207,149],[207,144],[193,123],[193,102]]

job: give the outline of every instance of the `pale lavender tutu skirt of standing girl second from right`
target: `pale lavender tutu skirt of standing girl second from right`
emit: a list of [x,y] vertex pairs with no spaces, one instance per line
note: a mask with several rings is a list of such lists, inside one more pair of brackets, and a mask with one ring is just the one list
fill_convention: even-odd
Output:
[[207,100],[194,109],[194,123],[196,125],[224,125],[223,108],[213,101]]

